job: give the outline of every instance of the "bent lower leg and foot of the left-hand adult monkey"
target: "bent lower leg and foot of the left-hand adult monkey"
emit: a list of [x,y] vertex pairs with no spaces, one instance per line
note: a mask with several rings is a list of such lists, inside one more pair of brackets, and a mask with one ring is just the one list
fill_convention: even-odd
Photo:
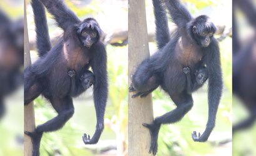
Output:
[[61,127],[66,124],[67,120],[69,120],[74,114],[74,106],[71,97],[51,97],[50,101],[58,113],[57,117],[54,117],[54,119],[51,119],[42,125],[38,125],[34,132],[25,132],[25,134],[31,137],[33,143],[33,156],[39,155],[42,133],[61,129]]

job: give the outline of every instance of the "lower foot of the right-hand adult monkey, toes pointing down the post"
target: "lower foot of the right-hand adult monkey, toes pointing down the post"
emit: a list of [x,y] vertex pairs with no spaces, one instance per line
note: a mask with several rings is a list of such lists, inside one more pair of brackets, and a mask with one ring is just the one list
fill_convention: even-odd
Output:
[[158,147],[157,139],[158,139],[158,134],[160,130],[160,125],[157,125],[157,124],[142,124],[142,125],[144,125],[144,127],[149,129],[149,132],[150,132],[151,143],[150,143],[149,153],[151,154],[152,152],[153,155],[156,155],[157,147]]

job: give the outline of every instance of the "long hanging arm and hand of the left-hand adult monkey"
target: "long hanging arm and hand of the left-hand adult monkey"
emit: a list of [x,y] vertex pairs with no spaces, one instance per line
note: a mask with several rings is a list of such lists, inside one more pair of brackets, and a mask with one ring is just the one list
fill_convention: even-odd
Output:
[[92,61],[90,61],[92,71],[95,76],[94,83],[94,106],[97,115],[96,131],[92,139],[84,134],[84,144],[96,144],[101,137],[104,129],[104,114],[107,103],[107,54],[102,42],[97,42],[91,47],[92,54],[94,54]]

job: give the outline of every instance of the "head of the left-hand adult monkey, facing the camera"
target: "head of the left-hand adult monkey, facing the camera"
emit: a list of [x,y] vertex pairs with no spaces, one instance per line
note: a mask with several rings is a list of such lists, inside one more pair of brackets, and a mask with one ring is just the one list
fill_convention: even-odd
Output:
[[77,25],[77,35],[82,46],[90,48],[93,44],[99,41],[102,34],[101,27],[93,18],[84,19]]

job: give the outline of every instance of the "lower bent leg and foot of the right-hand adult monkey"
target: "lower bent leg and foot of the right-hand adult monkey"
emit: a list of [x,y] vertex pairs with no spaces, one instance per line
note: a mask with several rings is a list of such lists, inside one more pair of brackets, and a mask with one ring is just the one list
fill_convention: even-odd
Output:
[[150,130],[151,144],[149,153],[152,152],[154,155],[157,153],[157,139],[160,125],[171,124],[179,121],[180,119],[182,119],[182,117],[184,117],[185,114],[187,114],[187,112],[189,112],[189,110],[193,106],[193,99],[192,96],[189,94],[183,93],[180,95],[171,95],[171,97],[174,103],[177,105],[176,109],[167,112],[160,117],[156,117],[152,124],[143,124]]

